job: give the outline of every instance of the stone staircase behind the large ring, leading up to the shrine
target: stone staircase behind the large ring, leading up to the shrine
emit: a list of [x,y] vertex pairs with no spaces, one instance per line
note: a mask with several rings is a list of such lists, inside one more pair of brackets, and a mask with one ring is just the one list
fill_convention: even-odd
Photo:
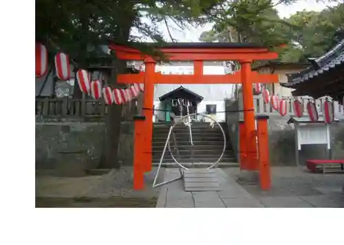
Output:
[[[170,124],[166,122],[158,122],[153,125],[153,165],[157,165],[160,162],[164,144],[169,134],[169,128]],[[222,128],[226,133],[226,123],[222,123]],[[210,166],[211,163],[219,159],[224,147],[224,138],[221,129],[217,125],[214,128],[210,127],[209,122],[193,122],[191,129],[194,144],[192,151],[189,140],[189,128],[184,124],[180,124],[173,129],[180,156],[179,162],[183,163],[186,167],[192,166],[192,162],[195,163],[195,167]],[[170,138],[170,144],[173,156],[178,159],[178,152],[174,147],[172,136]],[[166,150],[162,163],[166,167],[176,167],[177,165],[173,161],[173,158],[171,158],[171,153],[168,149]],[[226,151],[217,166],[238,166],[232,146],[230,145],[230,140],[228,139],[228,134],[226,134]]]

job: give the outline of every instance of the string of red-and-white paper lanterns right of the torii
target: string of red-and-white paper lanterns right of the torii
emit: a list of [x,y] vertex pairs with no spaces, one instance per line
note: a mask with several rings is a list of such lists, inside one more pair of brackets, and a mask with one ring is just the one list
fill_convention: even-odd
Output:
[[[279,115],[286,116],[288,112],[288,103],[286,102],[286,100],[280,100],[275,94],[270,95],[268,89],[259,83],[253,84],[253,87],[255,89],[255,93],[261,94],[265,104],[270,103],[272,109],[278,111]],[[292,101],[292,109],[294,111],[294,116],[296,116],[297,118],[301,118],[303,116],[303,104],[297,98]],[[319,120],[319,114],[316,109],[316,104],[313,101],[309,100],[306,109],[308,111],[310,121],[317,122]],[[334,105],[333,101],[328,100],[328,98],[326,98],[325,103],[323,104],[323,115],[325,123],[330,124],[334,122]]]

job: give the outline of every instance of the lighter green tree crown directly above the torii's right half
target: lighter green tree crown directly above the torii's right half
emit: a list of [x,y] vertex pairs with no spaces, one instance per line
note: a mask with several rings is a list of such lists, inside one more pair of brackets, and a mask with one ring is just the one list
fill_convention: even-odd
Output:
[[[283,1],[289,3],[290,1]],[[201,35],[201,41],[251,42],[273,46],[286,43],[281,32],[283,25],[270,0],[227,1],[212,16],[215,25],[211,32]],[[269,38],[267,38],[269,36]]]

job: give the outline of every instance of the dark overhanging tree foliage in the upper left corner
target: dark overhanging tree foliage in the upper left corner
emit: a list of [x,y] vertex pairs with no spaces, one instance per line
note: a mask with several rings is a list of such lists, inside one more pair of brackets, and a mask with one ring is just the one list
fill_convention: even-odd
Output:
[[[90,47],[115,41],[132,45],[148,36],[158,43],[164,42],[158,23],[172,20],[180,28],[186,23],[200,23],[206,11],[219,0],[37,0],[36,41],[47,45],[55,54],[67,52],[79,66],[95,62],[99,52]],[[144,19],[150,19],[150,23]],[[142,35],[129,35],[136,28]],[[153,49],[135,44],[143,52]],[[94,50],[96,51],[96,50]],[[103,58],[103,57],[101,57]]]

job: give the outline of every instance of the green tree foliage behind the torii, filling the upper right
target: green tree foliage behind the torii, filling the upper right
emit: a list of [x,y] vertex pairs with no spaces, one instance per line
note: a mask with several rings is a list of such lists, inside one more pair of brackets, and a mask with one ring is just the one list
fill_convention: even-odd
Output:
[[[275,1],[274,1],[275,2]],[[279,1],[288,5],[293,1]],[[213,12],[213,30],[201,41],[250,42],[275,48],[281,61],[306,61],[321,56],[344,38],[344,3],[321,12],[301,11],[280,19],[270,0],[237,0]]]

